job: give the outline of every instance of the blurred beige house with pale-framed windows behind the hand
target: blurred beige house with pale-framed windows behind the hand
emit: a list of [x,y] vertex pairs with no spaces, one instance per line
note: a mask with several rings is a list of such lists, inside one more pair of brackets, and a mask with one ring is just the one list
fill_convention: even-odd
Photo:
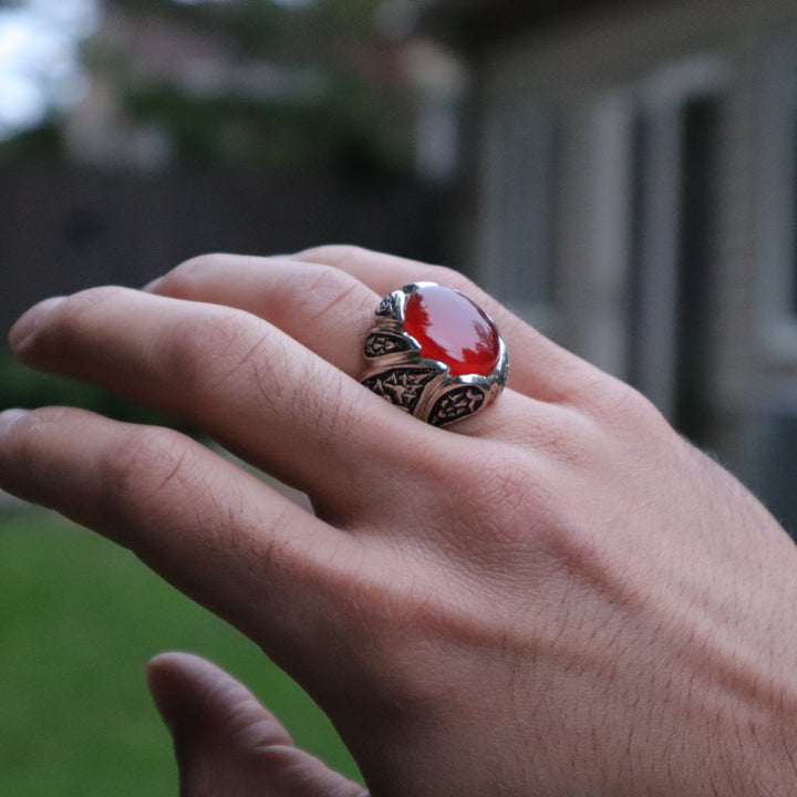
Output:
[[797,4],[427,6],[475,81],[463,262],[797,530]]

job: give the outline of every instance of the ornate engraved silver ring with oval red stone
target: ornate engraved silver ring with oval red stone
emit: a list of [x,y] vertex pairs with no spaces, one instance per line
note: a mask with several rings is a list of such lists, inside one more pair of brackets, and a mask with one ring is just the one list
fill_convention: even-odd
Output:
[[413,282],[382,300],[364,354],[362,384],[433,426],[491,404],[509,370],[493,319],[435,282]]

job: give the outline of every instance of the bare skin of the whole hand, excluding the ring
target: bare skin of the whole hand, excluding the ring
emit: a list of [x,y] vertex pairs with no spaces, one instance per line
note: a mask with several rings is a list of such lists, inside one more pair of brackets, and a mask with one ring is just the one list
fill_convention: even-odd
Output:
[[[363,389],[379,299],[484,307],[498,402],[433,428]],[[375,797],[791,795],[797,549],[638,393],[453,271],[349,247],[213,256],[50,300],[24,363],[179,415],[177,433],[0,416],[0,486],[54,507],[253,639],[330,715]],[[352,797],[211,664],[151,663],[182,793]]]

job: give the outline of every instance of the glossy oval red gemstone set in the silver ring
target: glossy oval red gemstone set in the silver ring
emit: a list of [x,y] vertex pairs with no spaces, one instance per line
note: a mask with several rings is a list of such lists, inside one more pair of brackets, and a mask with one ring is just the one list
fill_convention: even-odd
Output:
[[444,362],[453,376],[488,376],[498,362],[495,324],[467,297],[451,288],[418,288],[407,299],[404,331],[421,345],[421,356]]

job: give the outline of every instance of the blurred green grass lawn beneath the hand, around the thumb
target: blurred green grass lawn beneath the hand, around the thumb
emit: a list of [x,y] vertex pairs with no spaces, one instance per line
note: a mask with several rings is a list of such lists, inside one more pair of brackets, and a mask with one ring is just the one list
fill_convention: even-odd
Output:
[[217,662],[356,777],[323,714],[252,643],[127,551],[25,509],[0,514],[0,797],[176,797],[143,674],[165,650]]

